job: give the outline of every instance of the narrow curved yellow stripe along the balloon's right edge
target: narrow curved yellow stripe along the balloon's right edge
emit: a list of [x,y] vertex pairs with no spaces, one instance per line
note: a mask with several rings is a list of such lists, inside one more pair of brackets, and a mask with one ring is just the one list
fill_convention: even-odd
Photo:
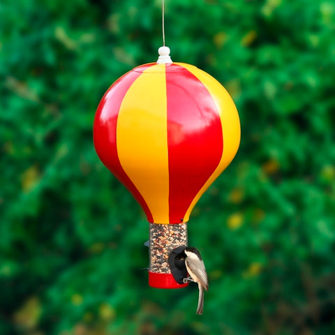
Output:
[[186,211],[185,221],[188,221],[188,218],[191,214],[191,211],[195,204],[200,199],[201,195],[207,188],[213,183],[213,181],[227,168],[239,148],[239,141],[241,137],[241,128],[239,124],[239,114],[234,105],[234,101],[228,94],[228,91],[216,80],[214,77],[211,77],[208,73],[196,68],[195,66],[184,64],[184,63],[175,63],[179,66],[183,66],[189,70],[195,77],[197,77],[204,87],[209,91],[209,94],[214,98],[216,106],[218,107],[219,116],[221,119],[221,126],[223,131],[223,154],[221,156],[221,161],[218,163],[216,170],[214,170],[211,177],[207,182],[202,186],[198,194],[193,199],[190,207]]

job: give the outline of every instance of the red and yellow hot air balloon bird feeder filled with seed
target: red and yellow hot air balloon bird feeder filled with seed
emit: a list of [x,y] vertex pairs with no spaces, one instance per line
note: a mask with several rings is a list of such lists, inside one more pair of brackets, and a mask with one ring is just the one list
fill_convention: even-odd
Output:
[[168,47],[158,54],[107,89],[94,118],[94,147],[149,221],[149,285],[182,288],[189,216],[234,158],[240,125],[214,77],[172,62]]

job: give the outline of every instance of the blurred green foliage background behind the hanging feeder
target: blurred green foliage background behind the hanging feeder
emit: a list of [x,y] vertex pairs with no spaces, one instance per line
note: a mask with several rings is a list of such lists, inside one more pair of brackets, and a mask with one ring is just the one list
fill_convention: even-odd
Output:
[[0,334],[335,334],[335,3],[166,0],[174,61],[239,110],[188,227],[209,273],[147,285],[142,209],[101,164],[105,90],[156,61],[161,1],[0,1]]

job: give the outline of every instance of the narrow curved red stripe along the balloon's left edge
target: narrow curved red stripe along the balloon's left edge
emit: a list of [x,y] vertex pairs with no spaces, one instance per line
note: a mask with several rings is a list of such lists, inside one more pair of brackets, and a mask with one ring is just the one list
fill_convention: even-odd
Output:
[[96,153],[103,164],[128,188],[128,191],[133,194],[142,209],[144,209],[148,221],[152,222],[153,218],[147,203],[124,172],[117,155],[117,117],[121,103],[129,87],[140,75],[142,73],[130,71],[114,82],[106,91],[96,111],[93,136]]

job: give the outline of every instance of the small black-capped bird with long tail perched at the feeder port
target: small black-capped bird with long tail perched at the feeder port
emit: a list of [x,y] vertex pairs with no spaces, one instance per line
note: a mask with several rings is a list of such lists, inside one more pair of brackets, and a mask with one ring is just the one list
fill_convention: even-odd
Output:
[[208,279],[206,269],[204,267],[204,261],[197,248],[188,246],[185,248],[184,253],[186,254],[185,265],[190,277],[184,278],[184,283],[188,281],[194,281],[198,283],[199,287],[199,299],[197,314],[202,314],[204,309],[204,290],[208,290]]

